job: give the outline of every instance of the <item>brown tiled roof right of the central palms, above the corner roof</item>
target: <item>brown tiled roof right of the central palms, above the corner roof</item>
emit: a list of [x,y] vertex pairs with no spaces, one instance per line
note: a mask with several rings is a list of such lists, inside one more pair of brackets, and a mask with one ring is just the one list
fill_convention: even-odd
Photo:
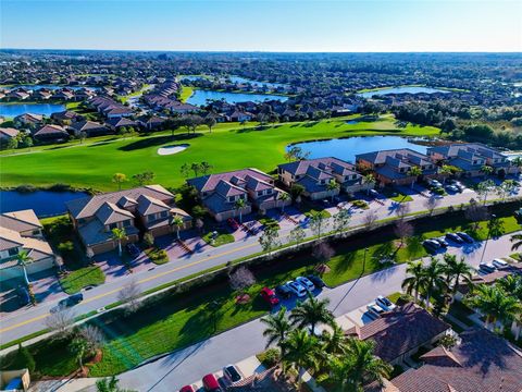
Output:
[[408,303],[362,327],[352,327],[345,334],[375,342],[375,355],[400,365],[419,348],[436,343],[451,327],[430,315],[422,307]]

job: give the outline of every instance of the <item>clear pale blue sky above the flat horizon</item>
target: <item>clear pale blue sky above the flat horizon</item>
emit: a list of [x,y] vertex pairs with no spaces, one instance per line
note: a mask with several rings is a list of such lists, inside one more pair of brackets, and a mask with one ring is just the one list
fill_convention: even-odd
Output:
[[522,1],[1,0],[2,48],[522,51]]

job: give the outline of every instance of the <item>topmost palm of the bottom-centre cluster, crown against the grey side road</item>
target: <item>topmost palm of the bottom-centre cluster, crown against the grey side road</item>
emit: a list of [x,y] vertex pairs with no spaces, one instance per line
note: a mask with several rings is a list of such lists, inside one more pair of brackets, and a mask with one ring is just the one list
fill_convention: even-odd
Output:
[[290,314],[291,322],[298,328],[310,326],[310,332],[315,334],[315,326],[318,323],[332,324],[334,316],[328,310],[328,298],[318,299],[308,293],[308,299],[299,303]]

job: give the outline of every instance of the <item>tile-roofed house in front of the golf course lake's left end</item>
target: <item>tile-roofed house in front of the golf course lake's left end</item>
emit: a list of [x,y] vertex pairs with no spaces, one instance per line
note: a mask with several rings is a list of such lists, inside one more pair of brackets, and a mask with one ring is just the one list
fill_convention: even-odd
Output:
[[288,187],[294,184],[302,185],[303,195],[312,200],[339,194],[339,189],[327,189],[331,181],[336,181],[340,189],[348,194],[372,188],[374,185],[363,184],[362,175],[356,171],[353,164],[333,157],[283,163],[277,167],[277,173],[279,181]]

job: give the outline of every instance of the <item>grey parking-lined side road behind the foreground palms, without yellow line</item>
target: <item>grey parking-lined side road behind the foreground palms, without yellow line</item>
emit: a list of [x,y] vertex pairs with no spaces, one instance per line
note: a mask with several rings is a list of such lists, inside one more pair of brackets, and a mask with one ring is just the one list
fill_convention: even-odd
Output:
[[[484,259],[492,260],[509,254],[510,235],[490,240]],[[451,247],[448,253],[464,256],[476,267],[482,257],[483,244]],[[400,291],[406,277],[406,265],[363,277],[333,290],[324,290],[319,297],[331,299],[331,309],[336,317],[355,310],[376,295],[389,295]],[[144,365],[120,376],[121,384],[138,391],[173,391],[194,382],[209,372],[216,371],[227,364],[234,364],[264,350],[263,324],[258,320],[248,322],[207,341],[170,354],[148,365]]]

